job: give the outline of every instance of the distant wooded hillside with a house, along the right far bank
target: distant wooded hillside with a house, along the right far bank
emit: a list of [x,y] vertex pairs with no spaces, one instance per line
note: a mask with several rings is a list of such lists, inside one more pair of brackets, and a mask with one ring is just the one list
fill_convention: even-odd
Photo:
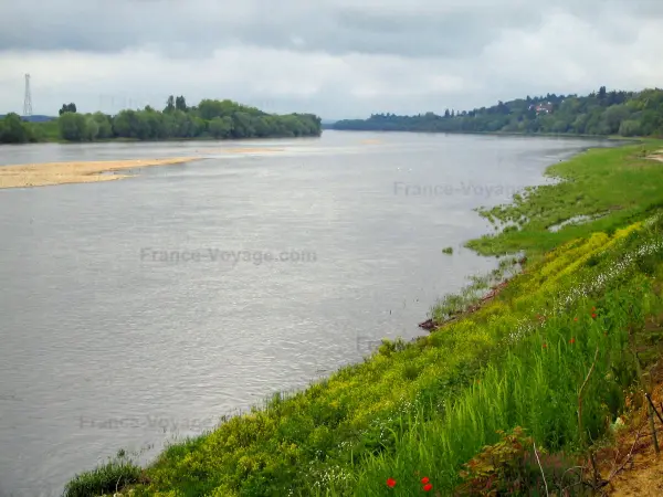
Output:
[[555,95],[498,102],[492,107],[442,115],[373,114],[345,119],[332,129],[375,131],[523,133],[663,137],[663,89],[608,92],[601,86],[586,96]]

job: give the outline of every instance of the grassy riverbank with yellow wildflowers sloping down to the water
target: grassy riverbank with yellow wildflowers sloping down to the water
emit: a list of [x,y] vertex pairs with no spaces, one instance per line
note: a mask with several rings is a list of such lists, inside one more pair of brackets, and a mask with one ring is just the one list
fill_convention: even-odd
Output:
[[[66,495],[112,494],[126,480],[137,496],[451,495],[459,486],[472,495],[499,485],[514,493],[518,483],[579,491],[588,472],[573,467],[587,468],[609,441],[639,368],[660,355],[663,165],[644,157],[662,147],[590,150],[550,168],[560,183],[482,212],[507,229],[470,246],[524,252],[524,271],[513,275],[519,264],[503,258],[432,309],[440,326],[430,335],[385,342],[305,391],[275,394],[144,470],[124,458],[82,474]],[[578,214],[604,216],[548,230]],[[514,218],[518,226],[508,228]],[[532,440],[516,432],[517,448],[506,438],[504,466],[480,458],[461,473],[499,442],[497,430],[517,426]],[[507,464],[530,455],[530,442],[536,461]]]

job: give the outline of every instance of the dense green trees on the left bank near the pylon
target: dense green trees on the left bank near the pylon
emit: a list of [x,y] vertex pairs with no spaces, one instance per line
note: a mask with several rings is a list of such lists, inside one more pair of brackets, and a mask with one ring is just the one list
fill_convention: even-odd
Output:
[[313,114],[275,115],[229,99],[203,99],[189,107],[183,96],[169,97],[164,110],[81,114],[65,104],[60,117],[28,123],[17,114],[0,119],[0,142],[95,141],[108,139],[239,139],[319,136],[320,118]]

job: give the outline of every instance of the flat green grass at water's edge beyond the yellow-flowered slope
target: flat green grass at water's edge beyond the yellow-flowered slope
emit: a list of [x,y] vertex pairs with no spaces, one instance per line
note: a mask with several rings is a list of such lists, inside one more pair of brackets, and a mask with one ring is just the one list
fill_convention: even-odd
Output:
[[[638,219],[652,205],[663,204],[663,163],[643,155],[663,148],[661,140],[619,148],[590,149],[551,166],[546,175],[562,180],[558,184],[528,188],[507,205],[480,210],[497,224],[516,224],[496,235],[472,240],[466,245],[483,255],[516,251],[543,252],[591,232],[610,232]],[[609,214],[593,222],[548,228],[578,215]]]

